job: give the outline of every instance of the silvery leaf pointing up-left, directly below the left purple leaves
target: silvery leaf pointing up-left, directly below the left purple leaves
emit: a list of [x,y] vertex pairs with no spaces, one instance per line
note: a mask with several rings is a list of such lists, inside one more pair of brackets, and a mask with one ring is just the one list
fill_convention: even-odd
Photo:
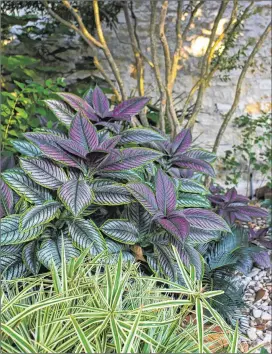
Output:
[[45,159],[20,159],[21,167],[36,183],[49,189],[58,189],[68,181],[63,168]]

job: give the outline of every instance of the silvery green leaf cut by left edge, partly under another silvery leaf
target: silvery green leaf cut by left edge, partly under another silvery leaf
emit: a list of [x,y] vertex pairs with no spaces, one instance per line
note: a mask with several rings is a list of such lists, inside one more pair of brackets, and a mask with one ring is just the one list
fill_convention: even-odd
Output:
[[1,220],[1,245],[18,244],[40,236],[43,226],[36,226],[27,231],[20,230],[20,215],[9,215]]

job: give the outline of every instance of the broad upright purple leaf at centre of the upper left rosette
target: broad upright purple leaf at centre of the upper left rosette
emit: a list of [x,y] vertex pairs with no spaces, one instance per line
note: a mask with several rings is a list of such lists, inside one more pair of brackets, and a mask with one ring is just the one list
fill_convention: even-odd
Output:
[[95,127],[80,114],[77,114],[73,119],[69,135],[72,140],[82,145],[87,151],[92,151],[98,146],[98,136]]

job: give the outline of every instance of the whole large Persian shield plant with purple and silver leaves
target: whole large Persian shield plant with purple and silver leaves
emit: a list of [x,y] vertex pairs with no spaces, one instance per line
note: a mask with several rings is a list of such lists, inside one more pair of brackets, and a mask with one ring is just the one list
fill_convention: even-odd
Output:
[[[47,105],[67,132],[40,128],[15,140],[20,167],[2,173],[2,274],[37,274],[88,249],[141,259],[179,277],[171,245],[200,276],[196,242],[229,226],[211,210],[201,175],[214,175],[214,155],[191,147],[184,130],[173,140],[154,129],[130,128],[148,98],[115,108],[96,87],[84,98],[60,93]],[[187,172],[186,172],[187,171]],[[186,176],[187,178],[184,178]],[[111,259],[115,259],[111,257]]]

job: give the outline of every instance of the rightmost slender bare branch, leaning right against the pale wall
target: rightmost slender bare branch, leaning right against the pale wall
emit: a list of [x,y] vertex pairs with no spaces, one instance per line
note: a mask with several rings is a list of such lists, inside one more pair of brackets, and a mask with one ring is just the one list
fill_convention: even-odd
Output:
[[250,53],[247,61],[244,64],[244,67],[241,71],[241,74],[239,76],[238,82],[237,82],[237,86],[236,86],[236,91],[235,91],[235,97],[232,103],[232,106],[230,108],[230,110],[227,112],[227,114],[225,115],[225,118],[221,124],[221,127],[218,131],[214,146],[213,146],[213,152],[216,153],[220,144],[220,141],[222,139],[223,134],[225,133],[225,130],[238,106],[239,103],[239,99],[241,96],[241,88],[242,88],[242,83],[243,80],[246,76],[246,73],[249,69],[249,67],[252,65],[253,60],[255,55],[258,53],[259,49],[261,48],[261,46],[263,45],[264,41],[266,40],[266,38],[268,37],[269,33],[271,31],[271,22],[268,24],[268,26],[266,27],[265,31],[263,32],[263,34],[261,35],[261,37],[259,38],[258,42],[255,44],[252,52]]

